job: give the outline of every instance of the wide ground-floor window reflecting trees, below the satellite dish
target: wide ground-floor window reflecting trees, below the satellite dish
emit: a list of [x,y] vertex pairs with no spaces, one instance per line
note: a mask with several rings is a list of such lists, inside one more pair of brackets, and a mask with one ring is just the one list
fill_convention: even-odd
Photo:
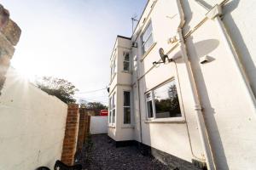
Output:
[[182,116],[175,81],[166,82],[146,94],[148,118]]

